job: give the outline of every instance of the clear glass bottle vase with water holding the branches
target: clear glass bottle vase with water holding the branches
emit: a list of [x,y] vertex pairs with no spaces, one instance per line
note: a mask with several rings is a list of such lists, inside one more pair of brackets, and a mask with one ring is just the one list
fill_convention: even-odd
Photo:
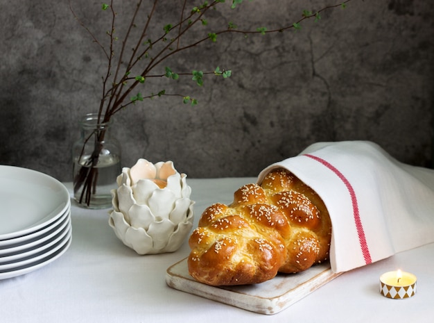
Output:
[[121,145],[112,137],[112,120],[91,113],[79,124],[80,139],[72,148],[74,199],[85,208],[110,208],[110,191],[121,174]]

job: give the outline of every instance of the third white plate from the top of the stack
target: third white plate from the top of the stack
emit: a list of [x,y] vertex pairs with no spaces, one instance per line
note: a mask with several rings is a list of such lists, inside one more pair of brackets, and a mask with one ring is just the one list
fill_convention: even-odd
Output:
[[30,258],[31,256],[35,256],[37,254],[41,254],[43,251],[46,251],[53,245],[57,244],[62,238],[64,238],[64,235],[66,235],[69,231],[69,226],[71,225],[71,219],[67,217],[67,219],[62,222],[62,225],[55,230],[51,235],[49,235],[49,239],[44,238],[42,242],[33,242],[31,245],[33,245],[31,248],[24,249],[20,252],[10,253],[10,254],[4,254],[0,256],[0,269],[1,265],[9,263],[11,261],[16,260],[24,260],[26,258]]

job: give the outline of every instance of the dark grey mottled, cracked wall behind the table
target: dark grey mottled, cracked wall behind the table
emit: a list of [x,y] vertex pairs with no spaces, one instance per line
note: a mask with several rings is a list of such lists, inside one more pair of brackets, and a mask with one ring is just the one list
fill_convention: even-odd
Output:
[[[121,29],[134,1],[118,2]],[[278,28],[303,9],[336,2],[254,0],[235,11],[225,3],[208,19]],[[104,39],[101,2],[71,3]],[[181,1],[160,3],[158,28]],[[190,177],[256,176],[313,142],[372,140],[405,163],[431,167],[433,17],[431,0],[353,0],[301,31],[222,35],[186,51],[169,62],[176,72],[219,65],[232,78],[211,76],[203,88],[188,78],[155,80],[199,105],[162,97],[121,111],[123,166],[147,158],[173,160]],[[0,0],[0,19],[0,163],[70,181],[71,143],[80,115],[98,107],[103,55],[65,0]]]

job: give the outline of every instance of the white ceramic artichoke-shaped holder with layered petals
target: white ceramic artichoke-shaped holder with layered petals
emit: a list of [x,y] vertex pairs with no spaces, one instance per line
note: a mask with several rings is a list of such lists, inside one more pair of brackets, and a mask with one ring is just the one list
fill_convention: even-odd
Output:
[[[154,181],[166,186],[159,188]],[[116,236],[141,255],[179,249],[194,216],[186,174],[178,173],[171,161],[154,165],[139,159],[131,169],[122,169],[117,183],[109,219]]]

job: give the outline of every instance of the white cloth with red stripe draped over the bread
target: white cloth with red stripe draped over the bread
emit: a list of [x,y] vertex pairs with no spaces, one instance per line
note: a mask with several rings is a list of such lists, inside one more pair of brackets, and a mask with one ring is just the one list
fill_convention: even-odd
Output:
[[319,142],[284,167],[320,195],[332,223],[330,263],[345,272],[434,242],[434,169],[399,163],[373,142]]

